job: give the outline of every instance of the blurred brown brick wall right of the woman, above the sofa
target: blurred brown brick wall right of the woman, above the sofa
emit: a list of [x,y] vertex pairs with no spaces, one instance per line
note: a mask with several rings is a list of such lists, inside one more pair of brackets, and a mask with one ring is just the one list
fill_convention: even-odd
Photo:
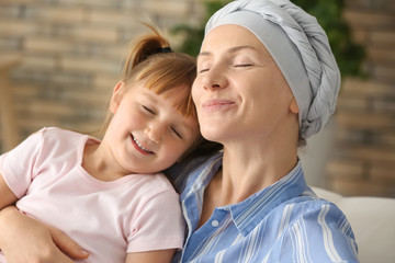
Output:
[[366,50],[369,76],[343,80],[327,185],[395,197],[395,1],[349,0],[345,18]]

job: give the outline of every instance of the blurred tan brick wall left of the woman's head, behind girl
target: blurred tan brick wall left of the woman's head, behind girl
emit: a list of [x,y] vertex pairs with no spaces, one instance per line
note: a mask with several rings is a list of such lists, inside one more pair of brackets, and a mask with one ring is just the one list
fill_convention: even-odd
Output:
[[44,126],[100,128],[126,45],[148,32],[139,21],[169,32],[202,11],[200,0],[0,0],[0,59],[22,57],[9,88],[19,140]]

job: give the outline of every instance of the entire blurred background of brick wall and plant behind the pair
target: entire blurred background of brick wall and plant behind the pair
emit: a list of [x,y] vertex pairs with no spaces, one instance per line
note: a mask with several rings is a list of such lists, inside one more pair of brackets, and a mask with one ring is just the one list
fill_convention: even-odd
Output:
[[[337,112],[301,150],[307,182],[395,197],[395,1],[298,0],[342,72]],[[127,43],[151,21],[195,55],[215,0],[0,0],[0,153],[44,126],[94,132]],[[198,48],[198,49],[196,49]]]

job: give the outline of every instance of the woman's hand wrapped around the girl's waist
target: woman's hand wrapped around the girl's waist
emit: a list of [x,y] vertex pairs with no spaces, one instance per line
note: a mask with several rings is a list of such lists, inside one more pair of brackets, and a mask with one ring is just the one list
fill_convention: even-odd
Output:
[[70,258],[89,256],[64,232],[23,215],[14,206],[0,211],[0,249],[8,263],[72,263]]

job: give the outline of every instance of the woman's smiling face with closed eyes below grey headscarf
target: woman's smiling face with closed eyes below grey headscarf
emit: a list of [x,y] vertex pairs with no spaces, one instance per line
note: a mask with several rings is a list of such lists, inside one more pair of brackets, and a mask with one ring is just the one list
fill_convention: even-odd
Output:
[[[293,116],[293,94],[262,43],[239,25],[206,35],[192,88],[202,135],[226,144],[270,136]],[[296,106],[297,107],[297,106]]]

